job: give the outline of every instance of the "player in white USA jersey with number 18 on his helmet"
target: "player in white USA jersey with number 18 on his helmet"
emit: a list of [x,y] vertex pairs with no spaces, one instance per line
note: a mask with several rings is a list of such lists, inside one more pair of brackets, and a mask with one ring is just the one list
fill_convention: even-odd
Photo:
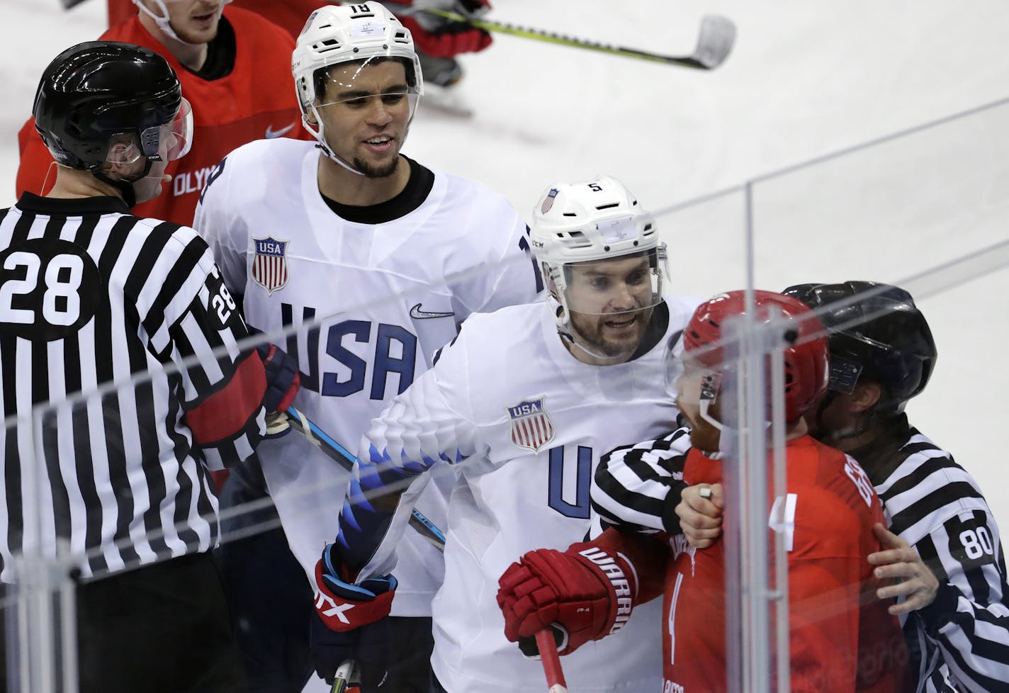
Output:
[[[526,224],[503,197],[400,153],[423,82],[410,32],[384,7],[313,12],[292,66],[317,141],[259,140],[233,151],[211,175],[195,226],[242,297],[248,324],[297,358],[296,407],[353,447],[462,321],[533,301],[542,281]],[[298,436],[266,441],[258,455],[287,541],[311,576],[332,540],[348,473]],[[444,505],[434,486],[418,500],[435,522],[444,521]],[[400,553],[393,613],[430,617],[441,556],[413,535]],[[263,582],[257,573],[252,580]],[[301,583],[306,617],[311,581]],[[254,609],[255,600],[239,597],[236,607]],[[414,625],[430,653],[430,620]],[[256,658],[275,657],[262,650]],[[415,652],[428,667],[414,641],[395,657],[402,664]],[[409,690],[426,690],[427,674],[405,676],[423,679]]]

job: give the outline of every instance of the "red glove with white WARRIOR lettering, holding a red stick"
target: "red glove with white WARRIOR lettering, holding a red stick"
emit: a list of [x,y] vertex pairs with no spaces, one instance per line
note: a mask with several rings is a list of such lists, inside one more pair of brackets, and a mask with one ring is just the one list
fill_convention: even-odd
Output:
[[564,655],[623,627],[638,590],[628,560],[592,544],[531,551],[497,584],[504,637],[516,643],[556,622],[567,631],[558,645]]

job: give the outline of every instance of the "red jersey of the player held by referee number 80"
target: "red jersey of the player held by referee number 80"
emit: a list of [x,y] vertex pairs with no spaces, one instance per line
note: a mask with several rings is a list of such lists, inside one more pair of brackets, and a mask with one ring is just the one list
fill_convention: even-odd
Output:
[[[867,561],[880,550],[872,527],[884,522],[869,478],[853,459],[808,436],[788,443],[787,465],[777,531],[788,549],[791,690],[913,690],[900,625],[887,612],[890,602],[876,598]],[[683,478],[721,483],[721,462],[690,450]],[[769,534],[773,542],[774,531]],[[635,564],[637,601],[655,595],[657,577],[665,581],[663,693],[724,693],[724,543],[696,550],[682,535],[660,538],[668,549],[664,565],[655,536],[609,530],[592,544],[621,551]]]

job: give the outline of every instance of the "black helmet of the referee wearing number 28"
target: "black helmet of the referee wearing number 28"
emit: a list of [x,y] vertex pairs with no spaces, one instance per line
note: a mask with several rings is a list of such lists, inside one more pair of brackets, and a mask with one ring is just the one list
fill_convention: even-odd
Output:
[[[183,104],[179,79],[157,53],[131,43],[88,41],[49,64],[31,112],[59,163],[99,176],[110,139],[133,135],[138,154],[147,158],[142,177],[159,158],[161,126],[173,122]],[[185,151],[174,153],[169,158]]]

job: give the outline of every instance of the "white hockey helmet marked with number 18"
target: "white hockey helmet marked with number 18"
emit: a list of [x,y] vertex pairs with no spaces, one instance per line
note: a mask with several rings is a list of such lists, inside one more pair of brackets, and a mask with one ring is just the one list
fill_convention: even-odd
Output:
[[[410,104],[409,117],[413,119],[417,101],[424,93],[424,78],[414,49],[414,38],[396,15],[377,2],[325,5],[309,15],[291,56],[291,72],[295,76],[302,123],[330,157],[333,153],[326,143],[322,119],[316,110],[336,103],[327,101],[324,96],[328,69],[341,63],[360,63],[363,67],[386,60],[398,60],[406,68],[406,96]],[[354,77],[345,76],[344,79],[352,83]]]

